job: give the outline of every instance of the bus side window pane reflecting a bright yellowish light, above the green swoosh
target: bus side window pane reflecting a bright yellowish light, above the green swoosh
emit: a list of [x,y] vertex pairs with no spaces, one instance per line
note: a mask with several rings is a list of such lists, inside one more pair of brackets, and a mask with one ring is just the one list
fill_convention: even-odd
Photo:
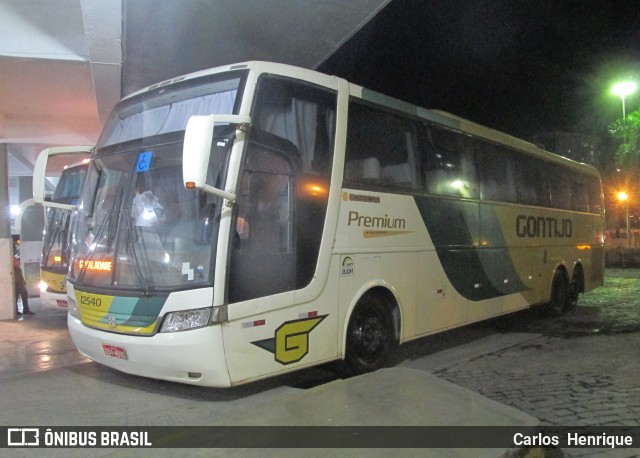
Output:
[[424,154],[427,192],[478,198],[473,151],[465,147],[463,135],[428,126]]

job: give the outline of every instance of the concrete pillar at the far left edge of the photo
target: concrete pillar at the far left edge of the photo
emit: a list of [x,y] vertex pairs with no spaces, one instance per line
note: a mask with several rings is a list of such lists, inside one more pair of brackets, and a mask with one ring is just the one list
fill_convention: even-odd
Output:
[[16,313],[8,155],[6,143],[0,143],[0,320],[13,319]]

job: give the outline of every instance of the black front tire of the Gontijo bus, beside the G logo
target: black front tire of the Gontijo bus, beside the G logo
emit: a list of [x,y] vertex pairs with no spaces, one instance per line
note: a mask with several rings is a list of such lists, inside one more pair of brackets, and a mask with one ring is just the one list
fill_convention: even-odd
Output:
[[383,367],[397,346],[390,308],[368,295],[356,305],[347,328],[345,363],[351,375]]

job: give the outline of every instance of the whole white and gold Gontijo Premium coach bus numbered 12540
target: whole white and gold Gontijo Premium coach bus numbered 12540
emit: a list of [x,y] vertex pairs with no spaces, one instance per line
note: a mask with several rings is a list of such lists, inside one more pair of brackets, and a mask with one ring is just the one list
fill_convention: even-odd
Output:
[[72,231],[71,337],[123,372],[228,387],[602,284],[598,172],[287,65],[122,100]]

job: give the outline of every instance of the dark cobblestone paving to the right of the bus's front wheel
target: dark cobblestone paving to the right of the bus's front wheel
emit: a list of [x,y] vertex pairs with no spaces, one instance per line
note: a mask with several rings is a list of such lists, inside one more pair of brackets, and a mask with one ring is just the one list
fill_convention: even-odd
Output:
[[[614,278],[608,278],[603,289],[582,298],[582,305],[562,317],[549,318],[533,309],[449,333],[449,339],[458,334],[463,341],[465,334],[497,332],[506,342],[496,351],[460,357],[461,348],[473,348],[470,343],[482,340],[470,337],[473,341],[467,344],[412,363],[415,356],[424,354],[421,341],[413,349],[404,349],[403,364],[422,366],[516,407],[543,426],[640,427],[640,271],[612,272]],[[510,345],[508,339],[520,333],[531,338]],[[458,359],[449,358],[448,353]],[[567,456],[602,455],[602,450],[564,452]],[[610,456],[640,456],[640,451],[620,450]]]

